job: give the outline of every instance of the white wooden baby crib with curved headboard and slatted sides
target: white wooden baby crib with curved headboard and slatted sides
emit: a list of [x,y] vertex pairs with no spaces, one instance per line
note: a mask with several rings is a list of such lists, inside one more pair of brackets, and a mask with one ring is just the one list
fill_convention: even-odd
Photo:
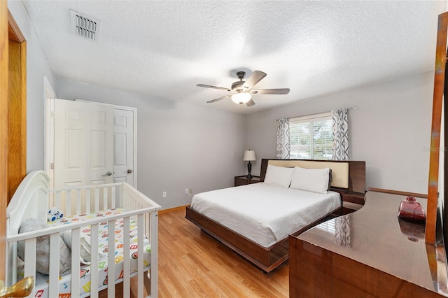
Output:
[[[131,278],[137,278],[138,297],[144,297],[145,290],[148,297],[158,297],[158,210],[161,207],[127,183],[50,190],[48,182],[48,176],[44,171],[29,173],[8,204],[6,285],[13,285],[23,276],[34,276],[35,280],[47,278],[48,285],[46,290],[40,291],[35,287],[29,297],[98,297],[99,291],[106,288],[107,297],[116,297],[115,286],[108,287],[107,284],[123,283],[123,297],[130,297]],[[18,233],[20,226],[27,218],[47,222],[48,210],[52,207],[62,209],[65,220],[61,221],[65,224],[59,222],[59,225],[50,225],[33,232]],[[120,212],[115,212],[118,209]],[[77,218],[75,215],[82,215],[83,218]],[[122,262],[116,262],[116,249],[111,250],[111,253],[107,248],[106,253],[97,251],[99,240],[101,240],[98,236],[101,225],[106,227],[106,232],[103,233],[106,233],[108,248],[116,248],[118,237],[121,239],[121,235],[116,236],[117,222],[123,226],[123,240],[121,240],[123,244],[120,244],[123,248],[123,257],[120,257]],[[135,225],[134,222],[137,224],[137,240],[133,239],[138,243],[134,246],[136,260],[132,260],[134,254],[131,257],[132,250],[130,250],[131,237],[134,237],[130,234],[130,227]],[[86,286],[81,285],[81,278],[77,274],[83,272],[80,264],[82,248],[80,239],[85,227],[91,231],[89,240],[92,249],[90,270],[87,270],[90,271],[87,292],[85,292]],[[61,290],[62,285],[59,281],[62,277],[67,278],[59,276],[59,235],[68,230],[71,231],[71,275],[74,273],[75,276],[75,278],[69,276],[69,282],[64,284],[69,292]],[[36,275],[36,241],[38,241],[36,239],[40,236],[50,237],[48,276]],[[25,241],[25,264],[20,264],[18,258],[18,241]],[[151,253],[144,251],[148,243],[151,248],[147,250]],[[145,260],[145,257],[148,260]],[[99,281],[101,272],[96,270],[99,264],[104,263],[107,264],[107,269],[103,270],[107,274],[105,284]],[[135,268],[131,268],[131,264],[134,264]],[[109,276],[114,278],[108,279]]]

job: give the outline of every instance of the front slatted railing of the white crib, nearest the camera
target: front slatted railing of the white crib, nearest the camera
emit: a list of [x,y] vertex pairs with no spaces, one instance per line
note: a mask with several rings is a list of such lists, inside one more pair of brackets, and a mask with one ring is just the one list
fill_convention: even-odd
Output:
[[[130,218],[132,216],[137,216],[138,225],[142,225],[144,223],[144,213],[150,212],[151,208],[141,209],[140,211],[131,211],[126,213],[121,213],[119,215],[111,215],[107,218],[108,221],[108,246],[113,248],[115,245],[115,220],[119,220],[123,218],[124,230],[130,230]],[[157,212],[157,211],[155,211]],[[80,279],[78,278],[78,272],[80,271],[80,229],[85,227],[86,225],[90,225],[90,229],[92,231],[92,235],[98,235],[98,225],[99,223],[104,222],[104,218],[94,218],[91,220],[84,220],[82,222],[70,223],[69,225],[59,225],[55,227],[48,227],[46,229],[41,229],[38,231],[27,232],[22,234],[16,234],[15,236],[8,237],[8,243],[17,243],[18,241],[25,241],[25,268],[24,268],[24,276],[34,276],[36,272],[36,262],[30,262],[30,260],[36,260],[36,239],[39,236],[50,236],[50,275],[49,275],[49,284],[48,284],[48,297],[59,297],[59,235],[60,233],[71,230],[71,297],[80,297]],[[156,225],[156,220],[153,221],[153,224]],[[140,256],[144,255],[144,232],[143,229],[139,229],[138,231],[138,239],[139,239],[139,248],[138,253]],[[124,293],[130,292],[130,239],[124,239],[124,253],[123,253],[123,278],[116,281],[117,283],[123,281],[123,290]],[[98,247],[98,237],[91,238],[91,246],[93,248]],[[156,246],[151,243],[151,272],[156,272],[157,269],[157,250]],[[155,250],[155,251],[154,251]],[[98,253],[92,253],[91,255],[91,268],[98,268],[99,263],[99,255]],[[113,250],[108,253],[108,275],[115,276],[115,255]],[[144,262],[139,262],[137,267],[137,276],[138,276],[138,289],[137,292],[144,292]],[[157,285],[157,274],[151,274],[151,297],[157,297],[158,285]],[[97,297],[98,291],[102,290],[100,285],[98,284],[98,271],[92,270],[90,275],[90,297]],[[113,279],[109,281],[111,285],[113,285]],[[155,295],[153,295],[153,293]],[[108,297],[115,297],[115,287],[108,287]],[[126,296],[125,296],[126,297]]]

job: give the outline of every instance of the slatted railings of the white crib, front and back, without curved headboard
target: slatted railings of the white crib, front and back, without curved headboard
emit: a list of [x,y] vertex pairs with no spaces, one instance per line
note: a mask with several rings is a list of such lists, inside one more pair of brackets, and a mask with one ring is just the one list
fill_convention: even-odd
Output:
[[[34,232],[8,235],[8,247],[17,248],[18,241],[25,241],[25,276],[34,276],[36,272],[36,238],[39,236],[50,236],[50,276],[49,276],[49,296],[59,297],[59,234],[71,230],[71,297],[80,297],[80,279],[77,274],[80,271],[80,229],[90,225],[91,234],[98,234],[98,225],[100,222],[108,222],[108,246],[115,247],[114,222],[117,219],[123,219],[124,231],[130,230],[130,220],[137,222],[138,229],[138,254],[144,255],[144,237],[146,236],[151,243],[151,297],[158,296],[158,210],[160,205],[148,199],[144,194],[134,189],[127,183],[111,183],[107,185],[75,186],[64,189],[49,190],[48,206],[46,208],[58,207],[64,212],[64,216],[77,215],[81,213],[91,213],[94,211],[109,208],[124,208],[125,212],[118,215],[108,215],[107,218],[91,218],[80,222],[72,222],[69,225],[57,225],[40,229]],[[44,220],[44,219],[40,219]],[[46,218],[45,218],[46,221]],[[140,227],[144,227],[141,229]],[[144,293],[144,262],[138,262],[137,273],[130,274],[130,239],[124,237],[124,260],[123,260],[123,278],[116,283],[123,281],[124,297],[130,293],[130,278],[137,275],[139,297]],[[91,239],[92,248],[98,247],[97,237]],[[16,255],[16,254],[15,254]],[[108,276],[115,276],[114,253],[108,253]],[[97,253],[91,255],[92,268],[98,268],[99,256]],[[15,264],[17,267],[17,264]],[[74,274],[73,274],[74,273]],[[97,270],[91,271],[90,297],[97,297],[101,286],[98,285]],[[113,285],[113,279],[109,279],[109,284]],[[8,283],[15,283],[16,280]],[[108,297],[115,297],[115,287],[108,287]],[[31,297],[31,295],[30,295]]]

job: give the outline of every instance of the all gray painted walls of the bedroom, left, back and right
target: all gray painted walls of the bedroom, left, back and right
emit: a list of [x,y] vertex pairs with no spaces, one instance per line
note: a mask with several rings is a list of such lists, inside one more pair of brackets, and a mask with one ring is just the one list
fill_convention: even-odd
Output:
[[8,9],[27,39],[27,172],[44,168],[47,76],[60,98],[138,108],[139,189],[164,208],[188,204],[186,187],[197,193],[231,186],[233,176],[246,173],[248,148],[258,174],[260,159],[275,157],[275,119],[351,106],[358,106],[349,111],[351,159],[367,162],[367,187],[427,192],[433,73],[244,116],[55,80],[22,1],[8,1]]

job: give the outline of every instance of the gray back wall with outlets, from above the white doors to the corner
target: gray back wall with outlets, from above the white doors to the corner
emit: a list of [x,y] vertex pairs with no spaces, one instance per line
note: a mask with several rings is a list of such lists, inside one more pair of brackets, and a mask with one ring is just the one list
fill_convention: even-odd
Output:
[[137,187],[162,208],[190,204],[186,188],[195,194],[230,187],[245,173],[243,115],[71,80],[56,85],[59,99],[137,108]]

